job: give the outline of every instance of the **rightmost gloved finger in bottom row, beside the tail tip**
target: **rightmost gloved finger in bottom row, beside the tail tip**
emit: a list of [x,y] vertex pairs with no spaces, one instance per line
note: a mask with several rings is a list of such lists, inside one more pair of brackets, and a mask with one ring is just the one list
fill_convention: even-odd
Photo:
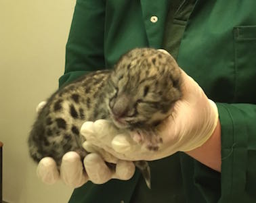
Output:
[[131,161],[120,160],[116,163],[116,171],[112,178],[128,180],[133,177],[135,173],[135,165]]

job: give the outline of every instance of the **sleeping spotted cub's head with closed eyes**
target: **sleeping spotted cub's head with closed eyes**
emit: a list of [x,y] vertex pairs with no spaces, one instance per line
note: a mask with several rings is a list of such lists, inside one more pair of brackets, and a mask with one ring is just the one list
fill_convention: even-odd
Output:
[[120,128],[155,125],[170,114],[182,94],[180,70],[171,55],[133,49],[116,63],[108,82],[107,105]]

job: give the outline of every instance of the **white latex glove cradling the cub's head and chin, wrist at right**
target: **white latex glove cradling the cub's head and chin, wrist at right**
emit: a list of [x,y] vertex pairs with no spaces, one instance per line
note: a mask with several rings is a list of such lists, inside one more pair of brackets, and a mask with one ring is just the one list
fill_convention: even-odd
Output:
[[98,151],[103,157],[108,152],[123,160],[152,161],[177,151],[198,148],[213,134],[218,121],[217,107],[183,70],[182,92],[182,99],[175,103],[171,116],[157,127],[158,135],[163,139],[157,151],[148,150],[143,143],[132,139],[135,136],[128,132],[121,133],[106,120],[83,124],[81,134],[87,140],[85,149],[95,148],[95,152]]

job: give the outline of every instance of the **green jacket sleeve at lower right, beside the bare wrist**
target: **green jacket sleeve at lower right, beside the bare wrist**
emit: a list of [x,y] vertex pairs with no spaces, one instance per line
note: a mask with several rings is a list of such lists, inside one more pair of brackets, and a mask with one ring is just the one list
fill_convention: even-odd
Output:
[[[221,202],[256,198],[256,105],[217,103],[221,121]],[[229,199],[227,199],[229,197]]]

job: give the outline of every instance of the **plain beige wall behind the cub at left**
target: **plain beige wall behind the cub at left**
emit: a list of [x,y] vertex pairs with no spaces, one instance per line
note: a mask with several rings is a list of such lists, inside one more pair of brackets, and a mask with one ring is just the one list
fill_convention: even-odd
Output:
[[12,203],[67,202],[62,182],[37,179],[26,139],[35,107],[58,88],[74,0],[0,0],[0,140],[3,199]]

